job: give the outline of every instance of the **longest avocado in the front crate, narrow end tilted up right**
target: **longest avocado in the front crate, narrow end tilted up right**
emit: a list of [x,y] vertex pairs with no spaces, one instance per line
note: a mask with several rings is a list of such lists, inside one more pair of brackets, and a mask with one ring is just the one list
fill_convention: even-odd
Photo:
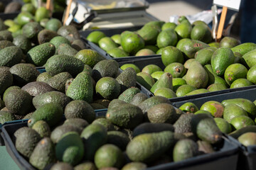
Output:
[[174,141],[174,132],[171,131],[139,135],[127,145],[127,156],[133,162],[151,162],[173,147]]

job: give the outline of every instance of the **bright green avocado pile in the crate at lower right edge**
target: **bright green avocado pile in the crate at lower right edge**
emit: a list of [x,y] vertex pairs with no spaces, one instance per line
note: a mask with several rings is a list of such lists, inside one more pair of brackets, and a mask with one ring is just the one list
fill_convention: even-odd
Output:
[[194,115],[207,114],[215,120],[221,132],[238,139],[242,145],[256,145],[256,100],[233,98],[222,101],[206,101],[200,109],[192,102],[179,107]]

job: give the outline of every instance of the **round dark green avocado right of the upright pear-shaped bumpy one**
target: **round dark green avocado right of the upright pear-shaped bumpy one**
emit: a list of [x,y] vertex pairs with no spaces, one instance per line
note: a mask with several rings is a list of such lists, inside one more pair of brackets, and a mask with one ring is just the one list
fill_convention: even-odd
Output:
[[118,81],[112,77],[102,77],[97,81],[95,91],[101,98],[112,100],[119,96],[120,85]]

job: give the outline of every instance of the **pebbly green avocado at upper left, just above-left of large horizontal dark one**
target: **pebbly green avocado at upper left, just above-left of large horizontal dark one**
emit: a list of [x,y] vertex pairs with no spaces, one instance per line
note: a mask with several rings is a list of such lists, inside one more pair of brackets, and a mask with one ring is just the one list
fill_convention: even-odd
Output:
[[43,66],[55,53],[55,46],[50,42],[33,47],[27,53],[27,61],[36,66]]

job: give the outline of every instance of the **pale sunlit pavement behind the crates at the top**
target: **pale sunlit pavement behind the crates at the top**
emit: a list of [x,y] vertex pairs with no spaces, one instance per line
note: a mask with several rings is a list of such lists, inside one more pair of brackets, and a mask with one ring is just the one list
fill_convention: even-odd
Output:
[[213,0],[146,0],[149,8],[146,10],[151,15],[162,21],[169,21],[172,15],[193,15],[207,10],[213,4]]

